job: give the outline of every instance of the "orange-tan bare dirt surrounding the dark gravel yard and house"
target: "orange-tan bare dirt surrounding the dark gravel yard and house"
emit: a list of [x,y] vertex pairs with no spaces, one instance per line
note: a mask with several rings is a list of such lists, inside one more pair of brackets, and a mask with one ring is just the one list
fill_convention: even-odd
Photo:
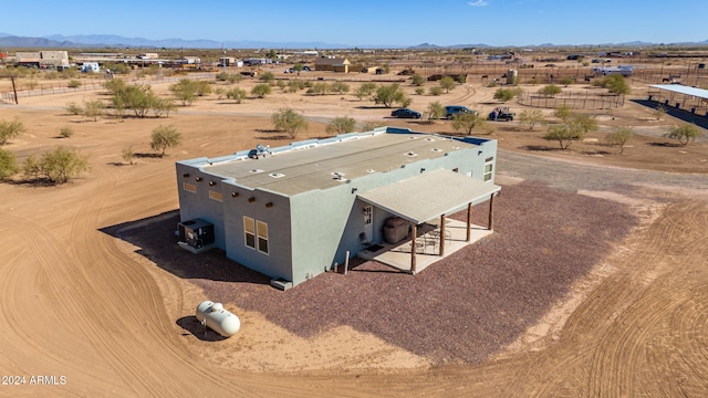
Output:
[[[239,84],[250,91],[253,83]],[[641,84],[633,88],[637,97],[644,96]],[[154,90],[166,93],[167,85]],[[415,95],[409,85],[406,90],[418,111],[433,101],[483,113],[498,105],[492,101],[496,88],[477,83],[439,97]],[[571,281],[569,293],[504,349],[481,363],[439,364],[351,327],[302,337],[235,302],[225,305],[240,317],[239,334],[204,338],[185,325],[196,305],[211,297],[197,281],[156,264],[149,248],[116,233],[174,213],[176,160],[220,156],[257,143],[288,144],[288,137],[272,132],[269,119],[281,107],[293,107],[310,121],[298,140],[326,136],[325,123],[336,116],[454,134],[449,122],[393,119],[391,109],[351,94],[306,96],[278,90],[242,104],[212,94],[159,119],[93,122],[64,111],[69,102],[96,97],[106,98],[101,92],[81,92],[0,105],[2,119],[17,116],[27,127],[4,146],[20,160],[66,145],[90,155],[92,166],[64,186],[34,186],[19,178],[0,184],[0,396],[708,394],[708,144],[704,137],[677,146],[662,137],[666,126],[678,123],[674,118],[656,121],[650,109],[628,101],[622,109],[596,114],[600,130],[566,151],[542,139],[542,127],[522,130],[516,122],[492,124],[502,191],[504,186],[535,180],[525,169],[537,163],[561,174],[586,168],[617,181],[608,189],[581,190],[570,184],[565,188],[624,203],[639,222],[614,247],[603,249],[602,260]],[[162,124],[174,124],[183,143],[157,158],[149,136]],[[637,132],[622,155],[602,144],[604,134],[618,125]],[[74,135],[58,138],[61,127],[71,127]],[[136,153],[135,165],[126,165],[121,156],[128,146]],[[627,169],[643,172],[644,179],[624,177]],[[697,182],[664,182],[685,176]],[[569,179],[573,178],[585,179]],[[543,177],[538,181],[564,184]],[[631,193],[622,188],[633,184]],[[296,289],[308,289],[308,283]],[[24,384],[8,385],[21,380]]]

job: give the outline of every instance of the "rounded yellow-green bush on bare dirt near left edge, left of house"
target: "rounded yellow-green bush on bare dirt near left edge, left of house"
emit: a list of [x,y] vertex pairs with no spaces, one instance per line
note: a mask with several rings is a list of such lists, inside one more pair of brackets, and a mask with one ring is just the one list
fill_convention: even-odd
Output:
[[38,159],[30,156],[24,160],[24,176],[45,179],[51,184],[64,184],[88,170],[88,158],[74,148],[55,147]]

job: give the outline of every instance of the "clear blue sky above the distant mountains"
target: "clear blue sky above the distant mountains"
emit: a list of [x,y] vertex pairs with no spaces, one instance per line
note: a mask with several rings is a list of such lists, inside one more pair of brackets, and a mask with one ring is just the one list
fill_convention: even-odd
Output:
[[0,0],[0,32],[346,45],[708,40],[705,0]]

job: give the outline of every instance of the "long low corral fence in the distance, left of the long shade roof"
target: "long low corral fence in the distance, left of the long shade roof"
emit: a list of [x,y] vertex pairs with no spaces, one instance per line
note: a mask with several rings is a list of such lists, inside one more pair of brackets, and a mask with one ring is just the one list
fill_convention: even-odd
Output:
[[624,105],[624,95],[593,92],[563,92],[555,96],[544,96],[537,93],[522,93],[518,101],[522,105],[546,108],[568,106],[572,109],[611,109]]

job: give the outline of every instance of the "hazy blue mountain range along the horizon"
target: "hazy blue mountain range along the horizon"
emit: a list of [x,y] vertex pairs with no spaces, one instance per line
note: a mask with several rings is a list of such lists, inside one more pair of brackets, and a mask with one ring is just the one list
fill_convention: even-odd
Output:
[[[664,43],[667,45],[708,45],[708,40],[701,42],[684,42],[684,43]],[[626,48],[644,48],[658,45],[658,43],[633,41],[626,43],[598,43],[598,44],[530,44],[530,45],[506,45],[504,48],[582,48],[582,46],[626,46]],[[455,44],[455,45],[436,45],[423,43],[413,46],[403,45],[348,45],[324,42],[263,42],[263,41],[214,41],[214,40],[184,40],[184,39],[144,39],[144,38],[124,38],[114,34],[80,34],[64,36],[61,34],[52,34],[42,38],[15,36],[9,33],[0,33],[0,49],[7,48],[42,48],[42,49],[80,49],[80,48],[115,48],[115,49],[485,49],[492,48],[488,44]]]

